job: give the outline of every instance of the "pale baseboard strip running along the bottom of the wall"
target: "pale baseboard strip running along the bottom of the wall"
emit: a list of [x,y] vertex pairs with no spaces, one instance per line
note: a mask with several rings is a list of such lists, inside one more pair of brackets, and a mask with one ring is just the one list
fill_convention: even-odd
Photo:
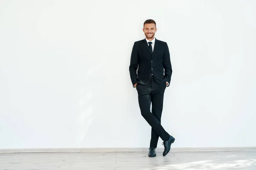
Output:
[[[162,151],[163,148],[157,148]],[[256,147],[172,147],[172,152],[206,152],[206,151],[241,151],[256,150]],[[0,153],[30,153],[30,152],[148,152],[148,147],[135,148],[22,148],[0,149]]]

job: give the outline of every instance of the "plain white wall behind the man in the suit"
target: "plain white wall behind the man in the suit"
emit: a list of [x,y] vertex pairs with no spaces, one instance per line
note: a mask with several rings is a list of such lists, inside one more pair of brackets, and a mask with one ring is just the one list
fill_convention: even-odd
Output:
[[[128,71],[146,19],[173,147],[256,146],[255,0],[1,0],[0,148],[148,147]],[[162,147],[159,140],[159,147]]]

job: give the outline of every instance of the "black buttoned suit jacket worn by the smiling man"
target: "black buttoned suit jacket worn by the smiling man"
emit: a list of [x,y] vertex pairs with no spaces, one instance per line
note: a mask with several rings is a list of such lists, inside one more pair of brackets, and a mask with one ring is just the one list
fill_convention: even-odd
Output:
[[135,83],[147,85],[152,76],[158,84],[166,82],[170,84],[172,65],[167,43],[156,39],[151,54],[145,39],[134,42],[129,71],[132,85]]

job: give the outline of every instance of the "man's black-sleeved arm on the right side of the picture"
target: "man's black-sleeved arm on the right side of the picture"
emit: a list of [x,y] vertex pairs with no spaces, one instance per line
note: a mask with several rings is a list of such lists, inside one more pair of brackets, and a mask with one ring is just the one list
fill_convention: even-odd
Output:
[[167,43],[166,43],[165,51],[163,54],[163,68],[165,70],[164,76],[166,77],[167,83],[168,83],[167,86],[169,86],[171,82],[171,77],[172,77],[172,64],[171,64],[170,52],[169,52]]

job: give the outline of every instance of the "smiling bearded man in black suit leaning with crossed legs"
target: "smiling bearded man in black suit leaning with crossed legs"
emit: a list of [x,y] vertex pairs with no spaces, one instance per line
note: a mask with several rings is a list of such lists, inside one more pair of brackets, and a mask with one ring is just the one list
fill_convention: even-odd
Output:
[[145,39],[134,42],[129,66],[131,82],[138,93],[141,115],[151,126],[149,157],[156,156],[155,148],[159,137],[163,140],[163,156],[169,153],[171,144],[175,141],[161,125],[163,96],[171,81],[172,65],[167,43],[154,37],[156,31],[154,20],[144,22]]

